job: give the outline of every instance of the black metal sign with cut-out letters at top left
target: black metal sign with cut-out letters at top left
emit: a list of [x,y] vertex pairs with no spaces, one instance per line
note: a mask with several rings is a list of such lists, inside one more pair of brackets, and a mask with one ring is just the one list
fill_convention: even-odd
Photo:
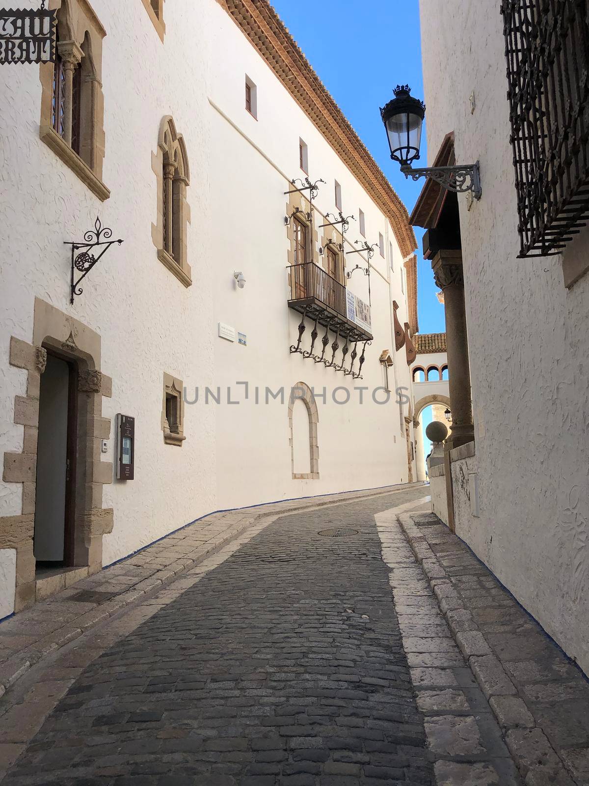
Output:
[[56,21],[45,7],[0,9],[0,63],[54,63]]

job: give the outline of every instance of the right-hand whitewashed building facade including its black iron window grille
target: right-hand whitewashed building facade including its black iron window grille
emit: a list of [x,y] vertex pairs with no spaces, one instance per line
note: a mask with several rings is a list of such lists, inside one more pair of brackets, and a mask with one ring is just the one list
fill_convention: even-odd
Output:
[[482,186],[454,215],[428,183],[412,215],[441,287],[463,283],[472,387],[432,488],[453,485],[456,534],[589,673],[587,4],[474,10],[420,0],[428,163],[479,160]]

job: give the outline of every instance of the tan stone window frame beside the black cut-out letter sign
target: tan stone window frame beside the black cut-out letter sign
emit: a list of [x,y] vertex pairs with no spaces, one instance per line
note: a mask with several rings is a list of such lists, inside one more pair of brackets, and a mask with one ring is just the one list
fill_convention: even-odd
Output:
[[64,138],[53,128],[53,63],[39,66],[41,119],[39,136],[101,201],[110,190],[102,182],[104,163],[104,95],[102,93],[102,42],[106,31],[87,0],[49,0],[57,10],[58,52],[65,72],[65,114],[71,117],[74,72],[80,68],[80,155],[71,148],[71,121],[66,119]]

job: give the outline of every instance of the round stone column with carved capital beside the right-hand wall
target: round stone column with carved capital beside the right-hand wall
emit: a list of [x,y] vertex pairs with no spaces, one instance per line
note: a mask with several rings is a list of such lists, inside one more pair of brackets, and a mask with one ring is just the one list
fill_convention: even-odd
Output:
[[474,441],[462,252],[439,251],[431,266],[436,284],[444,292],[448,387],[452,410],[452,428],[446,445],[452,449]]

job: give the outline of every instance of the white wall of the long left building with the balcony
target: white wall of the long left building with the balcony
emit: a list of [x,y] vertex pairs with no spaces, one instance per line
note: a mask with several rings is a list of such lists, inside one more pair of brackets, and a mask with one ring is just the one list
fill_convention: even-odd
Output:
[[[135,417],[135,479],[104,486],[103,505],[115,512],[112,534],[104,537],[104,564],[215,509],[406,481],[401,420],[408,406],[379,406],[370,395],[383,384],[379,354],[393,349],[393,299],[401,306],[399,319],[408,316],[398,276],[401,252],[389,222],[217,2],[167,2],[163,44],[139,0],[93,0],[93,9],[108,34],[103,180],[111,196],[104,203],[39,139],[38,67],[0,72],[2,452],[20,451],[23,440],[22,426],[13,424],[13,402],[25,394],[26,373],[9,365],[9,336],[31,341],[38,296],[101,335],[102,371],[113,380],[112,399],[103,400],[103,415],[112,419],[105,461],[115,461],[116,413]],[[258,121],[244,108],[246,74],[258,85]],[[152,243],[152,153],[168,114],[184,135],[191,170],[190,288],[158,261]],[[299,320],[287,309],[284,191],[290,178],[303,174],[299,137],[309,145],[311,176],[327,181],[316,200],[316,224],[321,214],[335,211],[337,178],[346,215],[361,208],[368,241],[378,242],[379,232],[385,237],[387,259],[378,249],[373,259],[375,340],[364,380],[344,378],[288,351]],[[70,306],[64,241],[82,239],[97,215],[125,242],[101,259]],[[356,225],[347,237],[360,237]],[[348,259],[353,266],[360,255]],[[247,278],[243,290],[235,287],[234,270]],[[366,301],[367,285],[360,272],[349,281]],[[218,321],[246,333],[247,347],[218,338]],[[412,395],[404,350],[395,362],[390,386],[404,386]],[[181,448],[163,442],[164,372],[184,381],[188,401],[199,388],[199,402],[185,406]],[[227,404],[228,386],[233,399],[243,399],[236,381],[249,381],[252,391],[256,384],[289,391],[298,380],[317,391],[327,387],[327,400],[317,401],[318,480],[291,478],[287,401]],[[351,391],[348,406],[331,401],[338,385]],[[353,391],[360,385],[370,388],[363,406]],[[206,386],[220,386],[225,403],[205,406]],[[0,482],[0,516],[18,515],[20,505],[20,484]]]

